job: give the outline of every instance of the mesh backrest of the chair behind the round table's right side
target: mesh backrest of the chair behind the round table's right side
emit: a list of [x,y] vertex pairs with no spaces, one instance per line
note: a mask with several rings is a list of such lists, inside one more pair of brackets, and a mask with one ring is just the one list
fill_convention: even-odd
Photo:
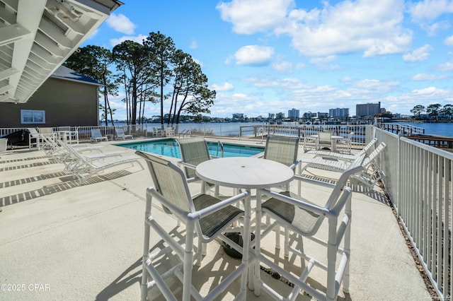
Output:
[[298,136],[268,135],[263,158],[291,166],[297,161],[299,139]]

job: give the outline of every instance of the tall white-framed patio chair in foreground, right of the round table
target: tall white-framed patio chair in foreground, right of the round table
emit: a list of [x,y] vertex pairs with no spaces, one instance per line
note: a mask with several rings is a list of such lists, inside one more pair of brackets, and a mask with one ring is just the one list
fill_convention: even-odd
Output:
[[[299,295],[300,290],[304,290],[304,292],[313,296],[316,300],[336,300],[342,280],[343,290],[345,293],[348,293],[352,191],[350,187],[346,187],[345,185],[351,175],[362,170],[363,167],[361,163],[363,158],[363,155],[360,158],[357,158],[350,167],[343,172],[335,186],[326,183],[316,183],[317,185],[322,184],[323,186],[333,188],[331,195],[325,201],[303,199],[289,191],[280,194],[268,189],[258,191],[257,203],[260,203],[260,196],[262,194],[270,196],[270,199],[262,204],[261,211],[270,216],[274,222],[263,231],[260,229],[260,223],[257,223],[256,232],[260,233],[259,236],[262,239],[273,228],[280,228],[280,226],[283,226],[287,231],[287,233],[285,233],[285,257],[289,256],[289,252],[292,252],[294,255],[300,256],[302,261],[305,260],[306,265],[304,265],[305,268],[301,271],[300,275],[296,276],[293,273],[290,273],[278,264],[278,262],[280,262],[279,260],[270,260],[265,254],[260,254],[258,252],[260,249],[260,240],[256,239],[255,249],[259,261],[276,273],[279,273],[290,283],[294,284],[292,292],[289,293],[289,295],[282,296],[269,285],[262,281],[256,281],[256,295],[260,295],[260,289],[263,289],[265,293],[273,296],[275,300],[295,300],[297,295]],[[296,179],[300,181],[309,181],[302,177],[296,177]],[[323,203],[323,205],[319,206],[316,205],[316,203]],[[344,211],[343,208],[345,208]],[[259,210],[257,211],[257,220],[261,220]],[[318,232],[324,220],[328,223],[328,235],[321,235]],[[289,235],[288,232],[293,232],[295,235]],[[297,242],[299,242],[299,244],[294,247],[294,244],[292,244],[289,237],[297,237]],[[319,256],[321,256],[319,254],[325,254],[324,252],[306,254],[302,247],[302,241],[305,238],[321,245],[321,247],[326,247],[326,258],[319,258]],[[337,253],[341,256],[339,262],[337,261]],[[309,273],[315,266],[323,268],[327,272],[326,281],[320,281],[318,278],[314,279],[314,281],[321,283],[321,285],[325,285],[326,292],[316,289],[315,286],[309,284],[311,281],[307,281]],[[255,273],[256,275],[259,273],[258,265],[256,266]]]

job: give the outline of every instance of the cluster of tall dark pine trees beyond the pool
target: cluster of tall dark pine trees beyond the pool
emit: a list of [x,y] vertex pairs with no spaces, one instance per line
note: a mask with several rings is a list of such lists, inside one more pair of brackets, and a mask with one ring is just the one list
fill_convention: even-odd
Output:
[[[162,128],[165,122],[177,126],[183,113],[195,117],[209,114],[216,97],[216,91],[208,88],[200,64],[190,54],[176,49],[171,37],[159,31],[149,33],[142,43],[127,40],[112,51],[94,45],[81,47],[64,66],[103,85],[100,108],[105,125],[108,116],[113,124],[115,114],[108,95],[118,95],[120,87],[125,92],[122,101],[126,105],[127,124],[143,123],[145,105],[160,102]],[[170,102],[166,113],[164,101]]]

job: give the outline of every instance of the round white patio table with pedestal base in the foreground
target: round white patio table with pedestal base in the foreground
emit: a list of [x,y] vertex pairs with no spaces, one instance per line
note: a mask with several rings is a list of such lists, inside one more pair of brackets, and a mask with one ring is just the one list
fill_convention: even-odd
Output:
[[[263,189],[271,187],[280,187],[290,182],[294,177],[294,171],[282,163],[277,163],[272,160],[260,158],[245,158],[245,157],[230,157],[217,158],[207,160],[197,165],[196,174],[200,179],[218,184],[219,186],[231,187],[236,189]],[[242,264],[248,266],[248,251],[250,247],[251,237],[251,194],[244,202],[244,233],[243,237],[249,237],[248,240],[243,239],[243,254]],[[260,204],[257,205],[260,210]],[[260,216],[260,214],[258,215]],[[260,233],[256,233],[256,249],[255,254],[260,253]],[[253,280],[248,283],[248,288],[253,290],[256,281],[259,280],[259,261],[251,272]],[[257,275],[258,273],[258,275]],[[241,279],[241,295],[246,296],[247,274],[243,273]],[[258,284],[258,283],[257,283]]]

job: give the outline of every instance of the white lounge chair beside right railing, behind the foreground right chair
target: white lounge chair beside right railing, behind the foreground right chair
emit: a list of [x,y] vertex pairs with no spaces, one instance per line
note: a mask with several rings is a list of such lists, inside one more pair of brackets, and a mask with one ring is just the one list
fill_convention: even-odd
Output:
[[[358,181],[362,182],[363,184],[367,185],[369,188],[373,188],[374,184],[377,183],[382,177],[384,177],[384,173],[382,170],[375,163],[375,159],[377,155],[381,153],[386,144],[381,142],[377,148],[374,149],[372,153],[370,153],[365,160],[363,160],[363,171],[360,172],[358,175],[352,175],[351,177],[357,179]],[[318,168],[320,170],[329,170],[333,172],[344,172],[348,170],[350,164],[352,163],[345,163],[343,161],[336,161],[336,160],[325,160],[322,158],[300,158],[302,164],[305,163],[303,167],[301,167],[301,175],[304,170],[307,168]],[[373,170],[374,169],[374,170]]]

